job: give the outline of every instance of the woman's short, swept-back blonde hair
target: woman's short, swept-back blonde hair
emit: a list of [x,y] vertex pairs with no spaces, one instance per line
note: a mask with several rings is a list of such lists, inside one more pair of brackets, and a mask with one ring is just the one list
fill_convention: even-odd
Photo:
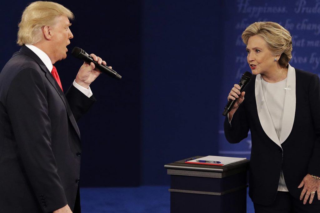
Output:
[[253,35],[261,36],[274,55],[281,55],[278,60],[281,67],[288,65],[292,58],[292,37],[288,30],[276,22],[254,22],[242,33],[242,41],[245,45]]

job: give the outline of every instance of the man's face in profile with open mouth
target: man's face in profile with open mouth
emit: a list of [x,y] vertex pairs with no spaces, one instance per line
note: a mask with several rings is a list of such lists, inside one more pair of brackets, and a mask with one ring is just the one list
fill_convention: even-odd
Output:
[[52,32],[52,57],[54,61],[60,61],[67,57],[67,45],[70,44],[70,39],[73,35],[70,31],[70,21],[67,16],[61,15],[56,19],[54,25],[50,26]]

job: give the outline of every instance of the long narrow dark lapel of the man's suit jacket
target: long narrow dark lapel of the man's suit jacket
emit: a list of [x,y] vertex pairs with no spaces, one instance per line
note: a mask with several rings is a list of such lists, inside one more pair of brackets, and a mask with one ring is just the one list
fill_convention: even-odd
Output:
[[67,109],[67,113],[68,113],[68,117],[71,121],[72,126],[75,128],[76,133],[78,134],[79,138],[80,138],[80,131],[78,128],[78,125],[76,123],[76,120],[72,114],[71,108],[68,104],[68,101],[66,99],[66,96],[64,95],[64,93],[62,92],[60,86],[58,85],[57,81],[53,78],[52,74],[50,73],[50,71],[48,70],[48,68],[44,65],[44,63],[41,61],[41,59],[28,47],[26,46],[22,46],[20,51],[31,57],[32,59],[34,59],[38,65],[40,66],[40,68],[42,69],[42,71],[45,73],[45,77],[47,78],[47,80],[52,84],[52,86],[55,88],[55,90],[57,91],[57,93],[59,94],[62,102],[64,103],[66,109]]

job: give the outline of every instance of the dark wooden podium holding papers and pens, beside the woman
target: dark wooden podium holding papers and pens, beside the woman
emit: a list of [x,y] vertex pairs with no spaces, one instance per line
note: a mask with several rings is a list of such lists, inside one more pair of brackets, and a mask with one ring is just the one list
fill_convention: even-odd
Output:
[[246,213],[249,160],[214,166],[187,159],[164,165],[171,175],[171,213]]

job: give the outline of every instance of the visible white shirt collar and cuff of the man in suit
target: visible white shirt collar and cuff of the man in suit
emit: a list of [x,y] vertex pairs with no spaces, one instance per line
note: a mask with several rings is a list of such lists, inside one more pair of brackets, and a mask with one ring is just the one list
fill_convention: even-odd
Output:
[[[31,49],[31,51],[34,52],[41,59],[41,61],[44,63],[44,65],[48,68],[50,72],[52,71],[53,65],[51,63],[49,56],[44,51],[42,51],[41,49],[31,44],[26,44],[26,47]],[[76,87],[78,90],[80,90],[84,95],[86,95],[89,98],[93,95],[90,87],[86,89],[80,86],[79,84],[77,84],[76,80],[73,81],[73,86]]]

